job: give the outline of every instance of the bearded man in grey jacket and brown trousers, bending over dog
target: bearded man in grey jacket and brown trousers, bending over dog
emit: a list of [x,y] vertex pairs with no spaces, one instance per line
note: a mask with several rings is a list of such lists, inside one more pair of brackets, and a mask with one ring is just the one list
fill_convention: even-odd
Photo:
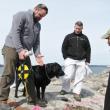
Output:
[[[25,60],[26,52],[33,49],[36,61],[43,65],[40,54],[40,30],[39,21],[48,13],[48,8],[44,4],[38,4],[33,10],[18,12],[13,16],[10,33],[6,37],[2,54],[4,56],[4,71],[0,82],[0,102],[8,103],[10,86],[14,81],[16,60]],[[33,83],[30,80],[30,83]],[[34,86],[27,91],[30,95],[30,102],[34,102]]]

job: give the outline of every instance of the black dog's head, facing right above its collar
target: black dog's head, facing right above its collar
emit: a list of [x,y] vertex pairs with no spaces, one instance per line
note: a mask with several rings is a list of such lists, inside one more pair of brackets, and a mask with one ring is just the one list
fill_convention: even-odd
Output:
[[60,76],[64,75],[64,71],[62,70],[62,67],[58,63],[50,63],[47,64],[47,71],[50,78],[56,76],[59,78]]

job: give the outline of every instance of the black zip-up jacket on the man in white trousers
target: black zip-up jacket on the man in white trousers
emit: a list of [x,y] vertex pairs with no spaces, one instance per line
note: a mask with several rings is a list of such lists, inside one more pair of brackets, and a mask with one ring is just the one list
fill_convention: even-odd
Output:
[[62,44],[62,54],[64,59],[86,59],[86,62],[90,63],[91,47],[87,36],[74,32],[68,34]]

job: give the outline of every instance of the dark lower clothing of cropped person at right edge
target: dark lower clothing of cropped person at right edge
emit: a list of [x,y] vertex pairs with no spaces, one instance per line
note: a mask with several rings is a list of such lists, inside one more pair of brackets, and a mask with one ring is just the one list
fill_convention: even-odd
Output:
[[110,110],[110,73],[108,79],[108,86],[105,94],[104,110]]

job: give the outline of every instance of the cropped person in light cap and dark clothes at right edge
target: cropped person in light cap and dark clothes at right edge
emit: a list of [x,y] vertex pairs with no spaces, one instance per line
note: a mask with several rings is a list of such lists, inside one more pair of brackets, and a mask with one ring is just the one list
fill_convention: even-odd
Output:
[[[107,39],[108,45],[110,46],[110,29],[102,38]],[[108,86],[105,94],[104,110],[110,110],[110,72],[109,72]]]

